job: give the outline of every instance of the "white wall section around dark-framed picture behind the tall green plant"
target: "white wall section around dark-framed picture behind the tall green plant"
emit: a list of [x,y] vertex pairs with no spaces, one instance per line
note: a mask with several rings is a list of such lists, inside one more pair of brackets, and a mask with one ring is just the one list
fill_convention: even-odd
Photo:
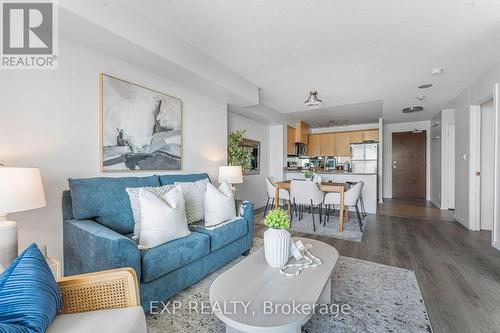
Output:
[[255,208],[266,204],[266,177],[269,176],[269,126],[239,114],[228,113],[228,130],[246,130],[245,137],[260,141],[260,173],[244,176],[244,183],[237,185],[237,197],[250,200]]

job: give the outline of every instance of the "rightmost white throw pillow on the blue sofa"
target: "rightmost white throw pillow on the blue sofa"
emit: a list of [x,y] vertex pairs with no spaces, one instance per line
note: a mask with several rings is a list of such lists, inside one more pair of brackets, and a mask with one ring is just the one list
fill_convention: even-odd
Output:
[[208,184],[205,194],[205,226],[214,226],[235,217],[234,193],[229,184],[224,181],[218,189]]

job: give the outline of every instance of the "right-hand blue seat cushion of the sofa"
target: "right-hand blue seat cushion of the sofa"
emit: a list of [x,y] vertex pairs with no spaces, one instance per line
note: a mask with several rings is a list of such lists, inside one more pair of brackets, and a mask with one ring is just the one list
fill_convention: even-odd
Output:
[[210,236],[210,252],[216,251],[248,233],[247,221],[237,217],[215,227],[205,227],[202,222],[189,226],[192,231]]

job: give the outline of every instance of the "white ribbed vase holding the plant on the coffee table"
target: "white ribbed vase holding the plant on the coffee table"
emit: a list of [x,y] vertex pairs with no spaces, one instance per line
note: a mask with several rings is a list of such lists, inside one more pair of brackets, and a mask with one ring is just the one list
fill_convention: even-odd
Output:
[[290,257],[290,233],[286,229],[269,228],[264,232],[264,253],[267,264],[281,268]]

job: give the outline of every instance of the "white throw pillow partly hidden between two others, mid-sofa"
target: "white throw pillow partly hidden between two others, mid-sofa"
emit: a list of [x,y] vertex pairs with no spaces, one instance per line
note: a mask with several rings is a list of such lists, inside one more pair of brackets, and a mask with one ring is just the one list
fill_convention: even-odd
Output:
[[205,191],[207,184],[209,184],[208,178],[196,182],[175,183],[175,185],[182,186],[188,223],[198,222],[205,217]]

